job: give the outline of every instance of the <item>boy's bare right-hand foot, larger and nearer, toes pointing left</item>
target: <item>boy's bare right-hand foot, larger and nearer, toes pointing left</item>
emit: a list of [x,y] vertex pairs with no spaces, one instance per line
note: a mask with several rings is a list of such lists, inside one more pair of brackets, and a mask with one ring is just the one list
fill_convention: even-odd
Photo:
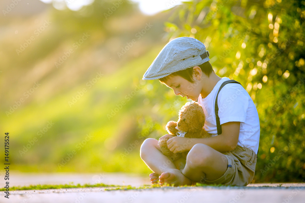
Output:
[[160,186],[163,184],[174,184],[174,186],[180,185],[192,185],[192,180],[185,177],[180,170],[172,169],[170,171],[164,172],[159,176]]

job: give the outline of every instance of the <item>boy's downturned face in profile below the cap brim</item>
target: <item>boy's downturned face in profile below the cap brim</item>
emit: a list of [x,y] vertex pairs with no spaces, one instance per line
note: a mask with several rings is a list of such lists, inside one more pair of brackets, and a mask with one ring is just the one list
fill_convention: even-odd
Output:
[[180,95],[182,97],[186,96],[193,101],[198,99],[201,91],[198,83],[189,82],[179,75],[170,76],[164,83],[174,90],[175,95]]

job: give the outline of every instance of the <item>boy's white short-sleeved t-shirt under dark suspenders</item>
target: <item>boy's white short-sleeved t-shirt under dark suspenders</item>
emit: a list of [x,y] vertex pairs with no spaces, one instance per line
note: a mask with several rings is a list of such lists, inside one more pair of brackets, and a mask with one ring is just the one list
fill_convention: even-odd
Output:
[[[201,95],[198,97],[198,103],[203,107],[206,115],[204,129],[211,133],[212,137],[217,136],[216,96],[221,84],[227,80],[230,79],[223,77],[218,81],[206,98],[202,98]],[[217,100],[220,124],[232,121],[241,122],[238,145],[252,149],[257,154],[260,140],[260,121],[249,93],[238,83],[228,83],[220,90]]]

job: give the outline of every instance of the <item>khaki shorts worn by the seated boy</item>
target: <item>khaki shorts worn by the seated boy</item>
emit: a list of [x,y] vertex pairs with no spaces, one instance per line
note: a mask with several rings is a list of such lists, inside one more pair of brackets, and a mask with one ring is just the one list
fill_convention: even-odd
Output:
[[253,150],[237,147],[229,152],[221,152],[228,159],[228,167],[224,174],[216,180],[205,180],[204,184],[223,184],[246,186],[254,177],[257,155]]

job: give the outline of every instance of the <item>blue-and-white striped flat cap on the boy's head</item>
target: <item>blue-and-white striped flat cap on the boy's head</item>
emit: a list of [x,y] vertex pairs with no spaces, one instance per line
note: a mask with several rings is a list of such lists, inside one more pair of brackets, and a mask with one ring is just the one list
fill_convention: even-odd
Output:
[[201,65],[210,61],[209,51],[199,40],[178,37],[168,42],[149,66],[143,80],[155,80],[173,72]]

